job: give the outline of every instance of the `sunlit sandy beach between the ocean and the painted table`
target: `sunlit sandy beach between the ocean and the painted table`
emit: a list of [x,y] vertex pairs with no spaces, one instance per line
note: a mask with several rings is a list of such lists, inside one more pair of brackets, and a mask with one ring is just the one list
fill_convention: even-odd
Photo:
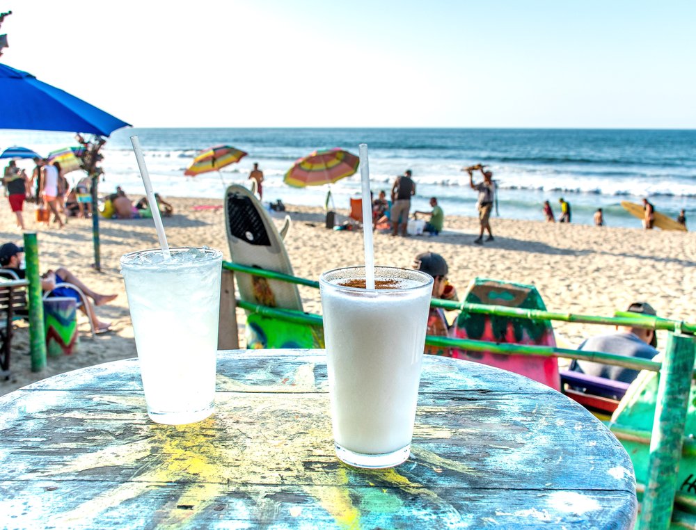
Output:
[[[138,200],[138,196],[132,197]],[[221,206],[221,200],[167,198],[175,215],[164,220],[171,246],[218,248],[230,259],[224,214],[221,208],[194,209],[200,205]],[[22,234],[6,200],[0,207],[1,242],[22,244]],[[322,271],[356,264],[363,257],[361,232],[334,231],[324,227],[324,211],[286,205],[292,227],[286,238],[294,273],[317,279]],[[90,337],[84,316],[79,316],[80,345],[74,355],[49,358],[47,367],[30,369],[29,332],[19,321],[13,339],[9,380],[0,381],[0,394],[64,371],[136,355],[125,289],[118,271],[122,254],[157,246],[150,219],[100,219],[102,271],[93,263],[92,222],[70,218],[63,230],[39,227],[33,221],[33,205],[25,205],[28,227],[38,232],[40,268],[64,266],[91,289],[118,293],[113,303],[97,307],[104,321],[113,323],[113,332]],[[338,222],[347,209],[339,210]],[[447,216],[440,236],[392,237],[376,234],[377,264],[410,266],[424,250],[438,252],[450,266],[449,278],[464,291],[475,276],[533,283],[541,292],[548,310],[578,314],[611,315],[624,310],[633,300],[648,301],[661,316],[696,321],[696,234],[643,231],[627,228],[547,224],[537,221],[492,219],[496,240],[476,246],[477,219]],[[274,214],[277,225],[283,217]],[[300,287],[304,309],[320,313],[319,291]],[[238,310],[240,346],[244,344],[244,316]],[[600,326],[554,324],[560,346],[574,348],[583,338],[603,332]],[[665,340],[660,332],[660,347]]]

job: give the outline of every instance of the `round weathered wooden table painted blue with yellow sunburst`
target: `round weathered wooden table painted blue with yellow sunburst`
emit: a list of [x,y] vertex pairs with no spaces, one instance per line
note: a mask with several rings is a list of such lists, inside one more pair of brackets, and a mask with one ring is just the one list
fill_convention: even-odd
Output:
[[187,426],[148,419],[137,360],[0,398],[2,526],[633,525],[621,444],[521,376],[426,355],[411,458],[368,471],[334,455],[323,351],[221,352],[218,374],[215,414]]

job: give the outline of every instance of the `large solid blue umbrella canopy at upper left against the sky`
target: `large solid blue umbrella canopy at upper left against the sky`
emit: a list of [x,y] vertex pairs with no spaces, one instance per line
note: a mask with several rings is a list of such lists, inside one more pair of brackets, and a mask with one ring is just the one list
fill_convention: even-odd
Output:
[[0,129],[109,136],[130,125],[33,75],[0,65]]

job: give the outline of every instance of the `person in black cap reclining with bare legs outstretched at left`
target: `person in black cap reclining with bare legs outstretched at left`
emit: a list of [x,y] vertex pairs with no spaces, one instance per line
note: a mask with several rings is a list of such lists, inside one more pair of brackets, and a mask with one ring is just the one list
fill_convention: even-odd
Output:
[[[3,246],[0,246],[0,266],[15,271],[20,279],[24,279],[26,271],[21,268],[23,253],[23,247],[19,247],[11,242],[5,243]],[[88,315],[94,323],[97,333],[104,333],[111,330],[111,323],[100,321],[94,310],[94,306],[109,303],[111,300],[114,300],[118,294],[100,294],[93,291],[65,267],[60,267],[56,271],[49,270],[41,276],[41,289],[43,291],[52,291],[52,289],[56,287],[56,284],[59,283],[72,283],[88,298],[84,300],[83,304],[79,293],[70,287],[58,287],[50,296],[69,296],[70,298],[74,298],[79,310]],[[89,298],[92,299],[91,302]]]

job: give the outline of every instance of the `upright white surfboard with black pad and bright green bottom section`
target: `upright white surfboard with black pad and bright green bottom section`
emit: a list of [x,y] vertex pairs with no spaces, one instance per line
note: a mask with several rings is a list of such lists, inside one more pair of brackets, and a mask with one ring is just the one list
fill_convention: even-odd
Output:
[[[244,186],[225,193],[225,225],[232,262],[292,275],[283,237],[259,200]],[[285,228],[287,231],[287,228]],[[235,273],[239,297],[250,303],[302,311],[296,284]],[[321,327],[278,321],[247,312],[246,347],[323,348]]]

